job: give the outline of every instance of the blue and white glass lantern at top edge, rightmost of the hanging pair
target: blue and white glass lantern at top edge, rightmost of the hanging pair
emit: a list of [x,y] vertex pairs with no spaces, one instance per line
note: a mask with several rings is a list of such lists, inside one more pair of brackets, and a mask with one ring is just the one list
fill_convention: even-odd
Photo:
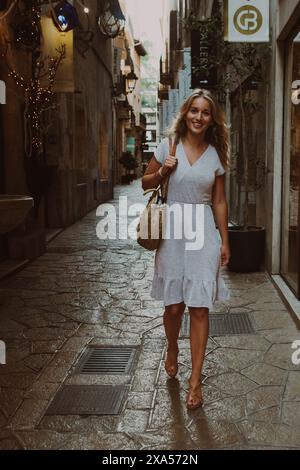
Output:
[[115,38],[124,31],[125,21],[119,1],[106,0],[103,13],[98,20],[101,33],[110,38]]

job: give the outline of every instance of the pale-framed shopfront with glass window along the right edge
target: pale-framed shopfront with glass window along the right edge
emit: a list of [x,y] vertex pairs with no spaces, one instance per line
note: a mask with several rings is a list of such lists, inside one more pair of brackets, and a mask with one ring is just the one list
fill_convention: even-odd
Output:
[[270,4],[266,266],[299,316],[300,2],[276,0]]

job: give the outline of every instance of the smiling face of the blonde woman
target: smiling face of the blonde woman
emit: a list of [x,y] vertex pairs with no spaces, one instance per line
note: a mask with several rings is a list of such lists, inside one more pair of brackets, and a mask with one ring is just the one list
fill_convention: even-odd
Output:
[[195,98],[185,116],[188,133],[205,135],[207,129],[213,124],[210,102],[203,98]]

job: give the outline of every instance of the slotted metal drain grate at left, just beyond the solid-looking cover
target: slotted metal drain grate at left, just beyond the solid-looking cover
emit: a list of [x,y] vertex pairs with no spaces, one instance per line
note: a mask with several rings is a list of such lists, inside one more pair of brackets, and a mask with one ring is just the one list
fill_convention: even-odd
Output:
[[75,374],[114,375],[130,374],[136,349],[120,346],[90,346],[83,353]]

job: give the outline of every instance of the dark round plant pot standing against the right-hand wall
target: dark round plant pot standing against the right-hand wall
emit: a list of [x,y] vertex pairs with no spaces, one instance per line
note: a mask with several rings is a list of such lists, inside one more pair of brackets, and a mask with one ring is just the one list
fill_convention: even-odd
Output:
[[228,268],[233,272],[259,271],[264,261],[266,230],[264,227],[230,227],[228,229],[231,258]]

